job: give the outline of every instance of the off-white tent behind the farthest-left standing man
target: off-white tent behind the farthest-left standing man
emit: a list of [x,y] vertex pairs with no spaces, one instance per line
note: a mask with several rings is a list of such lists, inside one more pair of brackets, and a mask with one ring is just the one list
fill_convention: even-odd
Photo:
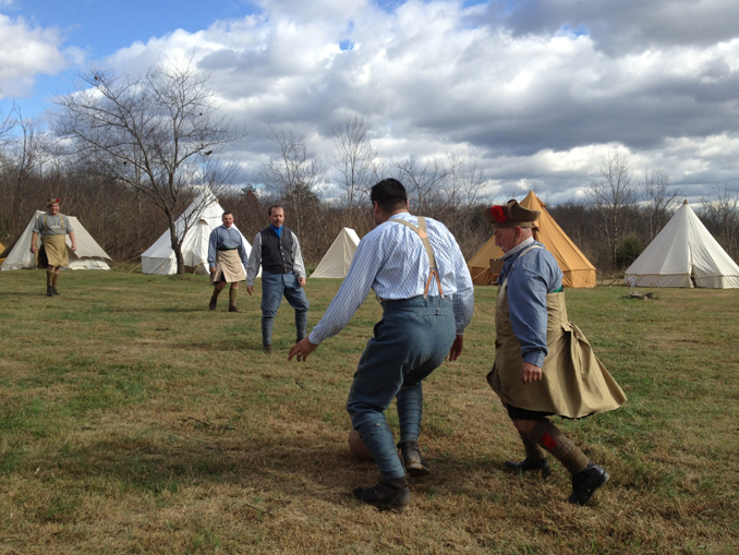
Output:
[[[5,252],[0,253],[2,256],[7,256],[5,262],[0,266],[0,270],[36,268],[36,255],[31,252],[31,239],[34,233],[36,218],[44,214],[41,210],[36,210],[36,214],[31,218],[26,229],[15,243],[9,245]],[[64,266],[62,269],[110,269],[106,261],[112,261],[112,258],[97,244],[93,236],[87,232],[77,218],[74,216],[66,217],[70,219],[72,228],[74,228],[77,250],[72,251],[72,241],[70,236],[66,236],[66,251],[70,257],[70,265]],[[37,246],[40,246],[40,244],[41,238],[39,236]]]

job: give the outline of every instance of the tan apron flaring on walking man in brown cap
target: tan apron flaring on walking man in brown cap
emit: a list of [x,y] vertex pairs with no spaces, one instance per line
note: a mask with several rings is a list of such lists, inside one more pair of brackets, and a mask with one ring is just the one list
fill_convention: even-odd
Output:
[[[525,256],[534,245],[521,253]],[[512,268],[511,268],[512,270]],[[510,273],[509,273],[510,275]],[[520,409],[582,418],[615,410],[626,395],[593,353],[587,339],[567,317],[565,293],[547,293],[546,343],[548,354],[542,379],[521,383],[521,345],[510,323],[508,278],[500,286],[495,311],[495,365],[487,382],[500,399]]]

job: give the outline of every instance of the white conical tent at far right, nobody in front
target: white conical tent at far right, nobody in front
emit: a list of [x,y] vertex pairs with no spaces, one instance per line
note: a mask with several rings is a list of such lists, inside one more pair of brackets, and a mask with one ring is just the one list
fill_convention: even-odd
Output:
[[631,287],[739,288],[739,266],[686,201],[626,270]]

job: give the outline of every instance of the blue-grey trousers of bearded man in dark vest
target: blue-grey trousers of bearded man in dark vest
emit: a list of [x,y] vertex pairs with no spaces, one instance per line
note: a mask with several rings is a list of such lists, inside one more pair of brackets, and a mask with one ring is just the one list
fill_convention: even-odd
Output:
[[311,306],[305,298],[305,291],[292,272],[272,274],[262,270],[262,342],[272,343],[272,324],[280,307],[282,295],[290,306],[295,309],[295,329],[298,341],[305,337],[307,327],[307,310]]

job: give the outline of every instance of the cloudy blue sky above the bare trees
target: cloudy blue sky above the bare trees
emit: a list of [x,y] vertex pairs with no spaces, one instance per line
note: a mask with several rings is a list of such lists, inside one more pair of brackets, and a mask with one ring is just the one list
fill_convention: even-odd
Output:
[[85,70],[191,61],[249,130],[222,153],[243,181],[270,126],[328,164],[359,116],[380,161],[455,153],[498,201],[581,201],[619,153],[698,202],[739,189],[737,22],[736,0],[0,0],[0,110],[48,121]]

